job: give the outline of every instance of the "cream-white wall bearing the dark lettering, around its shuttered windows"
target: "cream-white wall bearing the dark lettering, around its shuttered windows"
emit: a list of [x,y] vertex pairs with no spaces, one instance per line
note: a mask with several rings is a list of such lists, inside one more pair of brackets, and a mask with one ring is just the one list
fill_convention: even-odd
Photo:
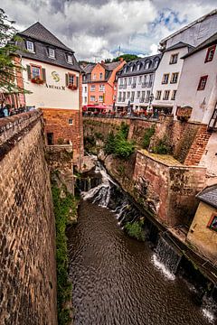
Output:
[[[71,72],[79,77],[79,72],[73,70],[67,70],[61,67],[57,67],[51,64],[43,63],[36,60],[22,59],[24,68],[28,64],[41,65],[46,70],[46,83],[42,85],[36,85],[28,80],[27,70],[23,71],[24,76],[24,88],[32,91],[32,94],[25,95],[26,106],[35,106],[42,108],[71,108],[79,109],[79,88],[77,90],[71,90],[66,87],[65,74]],[[60,77],[60,80],[55,81],[52,78],[52,72],[56,71]],[[60,87],[48,88],[47,86]]]

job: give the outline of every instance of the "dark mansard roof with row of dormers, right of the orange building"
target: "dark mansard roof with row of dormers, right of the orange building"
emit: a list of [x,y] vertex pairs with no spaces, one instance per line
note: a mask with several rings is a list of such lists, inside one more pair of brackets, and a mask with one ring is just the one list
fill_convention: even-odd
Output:
[[[161,60],[162,54],[156,54],[156,55],[151,55],[145,58],[137,59],[137,60],[132,60],[130,62],[127,62],[125,66],[118,72],[119,77],[129,77],[129,76],[137,76],[145,73],[150,73],[154,72]],[[146,69],[146,62],[150,62],[150,66],[148,69]],[[156,67],[154,67],[154,63],[157,61]],[[139,65],[139,70],[137,70],[137,65]],[[131,71],[131,67],[133,66],[133,70]],[[126,71],[127,69],[127,71]]]

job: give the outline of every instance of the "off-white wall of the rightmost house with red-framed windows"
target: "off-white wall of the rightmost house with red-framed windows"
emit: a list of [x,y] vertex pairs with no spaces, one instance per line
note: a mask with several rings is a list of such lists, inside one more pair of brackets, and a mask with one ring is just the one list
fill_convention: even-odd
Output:
[[[175,107],[193,107],[190,121],[208,124],[217,101],[217,49],[213,60],[204,63],[206,52],[204,49],[184,59]],[[197,90],[200,78],[206,75],[205,88]]]

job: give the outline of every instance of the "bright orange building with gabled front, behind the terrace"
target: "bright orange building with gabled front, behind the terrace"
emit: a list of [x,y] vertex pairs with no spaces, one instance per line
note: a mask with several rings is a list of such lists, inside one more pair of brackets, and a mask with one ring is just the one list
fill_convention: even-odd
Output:
[[111,63],[101,61],[83,69],[83,87],[87,87],[88,98],[86,105],[105,105],[113,108],[117,93],[116,74],[125,63],[124,60]]

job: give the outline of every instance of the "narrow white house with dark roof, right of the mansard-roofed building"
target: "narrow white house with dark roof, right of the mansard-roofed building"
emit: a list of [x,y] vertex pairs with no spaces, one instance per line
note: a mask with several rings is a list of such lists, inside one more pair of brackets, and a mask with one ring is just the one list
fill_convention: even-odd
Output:
[[193,50],[192,46],[178,42],[164,51],[156,70],[152,103],[154,108],[171,113],[184,63],[181,58],[190,50]]

